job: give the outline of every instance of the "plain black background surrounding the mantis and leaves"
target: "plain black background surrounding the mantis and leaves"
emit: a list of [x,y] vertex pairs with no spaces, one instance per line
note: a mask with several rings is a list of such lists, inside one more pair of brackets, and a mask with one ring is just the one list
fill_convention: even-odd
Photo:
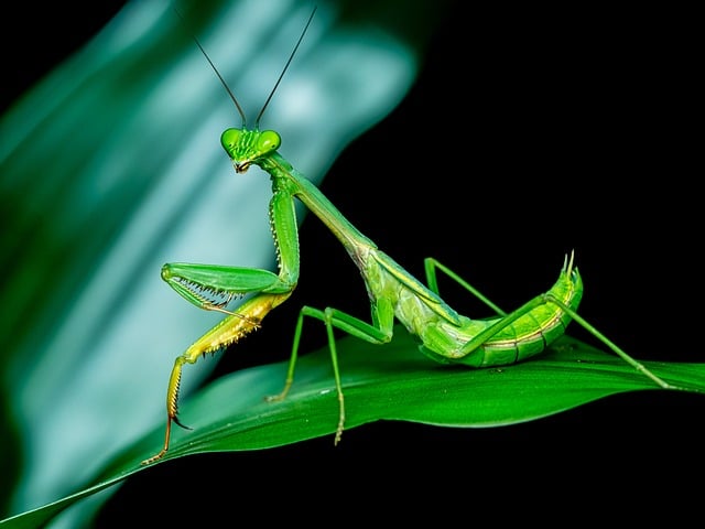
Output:
[[[120,4],[84,7],[80,23],[47,25],[41,37],[6,29],[14,66],[6,62],[2,108]],[[545,291],[575,249],[588,321],[638,358],[702,361],[687,17],[639,9],[451,4],[409,96],[345,151],[324,193],[412,273],[423,277],[423,258],[436,257],[505,309]],[[50,4],[41,19],[63,12]],[[30,9],[18,17],[13,24],[37,21]],[[265,352],[284,359],[302,304],[367,317],[358,272],[313,217],[301,249],[292,300],[214,378],[261,364]],[[487,315],[442,288],[460,311]],[[303,350],[322,346],[323,327],[304,339]],[[143,520],[206,511],[235,525],[259,505],[270,507],[258,521],[420,512],[469,523],[478,512],[502,519],[498,506],[523,498],[541,519],[566,500],[571,514],[596,519],[609,507],[684,516],[695,490],[682,479],[702,482],[704,469],[702,413],[702,398],[641,392],[516,427],[376,423],[347,431],[336,449],[324,438],[194,456],[128,479],[100,527],[124,527],[138,509]]]

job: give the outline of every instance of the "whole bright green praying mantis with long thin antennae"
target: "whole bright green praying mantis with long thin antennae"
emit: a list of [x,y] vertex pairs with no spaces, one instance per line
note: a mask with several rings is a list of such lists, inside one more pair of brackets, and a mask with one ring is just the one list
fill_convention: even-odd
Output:
[[[299,280],[299,236],[294,198],[301,201],[330,229],[359,268],[371,303],[371,323],[332,307],[319,310],[303,306],[295,326],[283,390],[276,396],[268,397],[268,400],[284,399],[293,384],[304,319],[322,321],[327,331],[339,407],[336,444],[340,441],[345,427],[345,400],[334,328],[372,344],[384,344],[392,338],[397,319],[410,333],[417,336],[421,352],[432,359],[444,364],[464,364],[473,368],[481,368],[514,364],[542,353],[565,332],[566,325],[574,320],[625,361],[653,380],[655,385],[666,389],[679,389],[631,358],[576,313],[583,294],[583,282],[577,268],[574,267],[573,255],[570,258],[566,256],[557,281],[546,293],[538,295],[511,313],[501,311],[454,271],[433,258],[425,260],[426,287],[378,249],[375,242],[352,226],[315,185],[279,154],[278,149],[281,144],[279,133],[273,130],[260,131],[259,122],[291,64],[314,13],[315,10],[311,13],[252,129],[247,128],[245,112],[239,102],[196,41],[242,119],[241,128],[227,129],[221,136],[221,144],[231,159],[236,173],[245,173],[250,165],[254,164],[271,177],[272,198],[269,215],[278,253],[279,273],[215,264],[164,264],[162,278],[183,298],[200,309],[220,311],[227,316],[175,359],[166,395],[167,419],[164,445],[159,453],[142,463],[154,462],[166,453],[172,422],[183,427],[177,418],[178,387],[183,365],[194,364],[200,356],[220,350],[258,328],[262,319],[272,309],[286,301],[295,289]],[[497,313],[497,316],[471,320],[458,314],[438,294],[437,270],[481,300]],[[253,295],[241,304],[237,312],[226,309],[234,296],[245,294]]]

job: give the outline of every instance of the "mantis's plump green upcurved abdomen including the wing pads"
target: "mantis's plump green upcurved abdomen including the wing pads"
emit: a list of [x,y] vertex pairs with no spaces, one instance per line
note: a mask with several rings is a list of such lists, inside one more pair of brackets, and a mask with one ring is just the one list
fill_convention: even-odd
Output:
[[378,320],[391,322],[391,314],[384,312],[392,311],[410,333],[419,336],[421,350],[442,364],[502,366],[538,355],[564,334],[572,320],[562,305],[577,311],[583,295],[583,281],[571,257],[546,293],[510,315],[470,320],[457,314],[437,290],[429,290],[386,253],[368,249],[365,255],[362,277]]

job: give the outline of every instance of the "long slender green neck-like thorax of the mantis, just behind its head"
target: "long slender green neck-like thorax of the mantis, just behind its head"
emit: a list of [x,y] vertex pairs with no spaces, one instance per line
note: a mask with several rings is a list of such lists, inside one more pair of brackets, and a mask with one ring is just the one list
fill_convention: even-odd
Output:
[[[337,207],[296,171],[281,154],[274,152],[260,165],[272,176],[272,191],[285,192],[299,198],[343,244],[350,256],[358,256],[364,248],[377,248],[372,240],[365,237]],[[357,260],[356,260],[357,262]]]

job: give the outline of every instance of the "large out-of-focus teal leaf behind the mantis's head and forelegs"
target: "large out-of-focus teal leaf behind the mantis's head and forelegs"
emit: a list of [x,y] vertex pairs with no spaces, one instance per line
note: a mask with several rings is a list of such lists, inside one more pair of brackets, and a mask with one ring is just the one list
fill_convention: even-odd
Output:
[[[262,127],[319,182],[402,99],[421,46],[375,22],[384,2],[345,24],[344,3],[315,3]],[[129,2],[0,119],[3,509],[64,496],[161,420],[164,367],[215,321],[175,298],[162,263],[274,266],[269,179],[236,176],[220,149],[239,116],[189,32],[251,120],[312,7],[181,2],[184,22]],[[194,366],[185,396],[213,365]]]

